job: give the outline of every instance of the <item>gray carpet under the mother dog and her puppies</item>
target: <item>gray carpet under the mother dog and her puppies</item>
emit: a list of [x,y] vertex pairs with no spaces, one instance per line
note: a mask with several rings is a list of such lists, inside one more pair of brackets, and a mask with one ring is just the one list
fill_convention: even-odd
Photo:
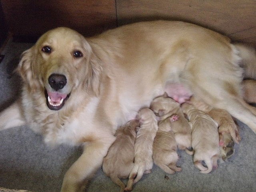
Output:
[[[0,63],[0,110],[14,100],[20,90],[20,79],[11,71],[21,52],[32,44],[8,42]],[[178,151],[182,172],[165,174],[154,166],[134,185],[134,192],[255,192],[256,134],[238,122],[242,141],[235,145],[235,154],[219,164],[210,174],[201,174],[192,163],[192,156]],[[81,154],[79,147],[46,146],[40,135],[28,127],[15,127],[0,132],[0,186],[33,192],[58,192],[66,170]],[[126,180],[124,180],[126,182]],[[88,184],[88,192],[118,192],[102,169]]]

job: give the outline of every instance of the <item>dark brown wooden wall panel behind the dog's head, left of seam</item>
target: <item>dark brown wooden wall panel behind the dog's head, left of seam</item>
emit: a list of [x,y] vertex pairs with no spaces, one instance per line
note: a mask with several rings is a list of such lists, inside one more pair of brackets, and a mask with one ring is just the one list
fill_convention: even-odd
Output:
[[14,36],[38,38],[59,26],[91,36],[117,26],[115,0],[1,0],[1,3],[8,30]]

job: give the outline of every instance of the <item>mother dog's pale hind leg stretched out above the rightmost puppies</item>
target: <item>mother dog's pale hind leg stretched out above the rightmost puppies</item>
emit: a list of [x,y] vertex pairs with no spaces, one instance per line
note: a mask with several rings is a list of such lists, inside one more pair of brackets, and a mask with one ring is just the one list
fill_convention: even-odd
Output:
[[[193,64],[190,63],[191,66],[189,68],[193,68]],[[195,70],[198,69],[196,68]],[[201,98],[210,106],[228,111],[256,133],[256,109],[242,99],[239,75],[229,70],[227,70],[227,73],[233,74],[233,76],[229,75],[232,80],[226,81],[223,77],[216,78],[210,76],[211,74],[208,74],[208,77],[197,73],[192,74],[189,70],[184,71],[180,77],[196,97]]]

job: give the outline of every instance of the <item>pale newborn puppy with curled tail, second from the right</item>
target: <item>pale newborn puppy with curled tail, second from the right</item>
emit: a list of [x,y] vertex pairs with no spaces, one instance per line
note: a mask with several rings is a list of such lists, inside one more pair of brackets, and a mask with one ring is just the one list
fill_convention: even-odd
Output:
[[[188,116],[192,127],[192,148],[194,151],[194,165],[201,173],[210,173],[217,168],[217,160],[220,154],[218,124],[209,115],[184,103],[182,110]],[[206,167],[202,165],[202,161]]]

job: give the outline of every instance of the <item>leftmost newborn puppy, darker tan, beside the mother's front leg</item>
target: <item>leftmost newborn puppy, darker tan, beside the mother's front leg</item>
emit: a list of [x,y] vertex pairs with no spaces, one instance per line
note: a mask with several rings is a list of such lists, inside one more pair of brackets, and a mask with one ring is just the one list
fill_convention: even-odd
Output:
[[102,169],[124,191],[125,184],[119,178],[128,178],[134,166],[134,143],[138,120],[131,120],[116,131],[116,140],[103,159]]

